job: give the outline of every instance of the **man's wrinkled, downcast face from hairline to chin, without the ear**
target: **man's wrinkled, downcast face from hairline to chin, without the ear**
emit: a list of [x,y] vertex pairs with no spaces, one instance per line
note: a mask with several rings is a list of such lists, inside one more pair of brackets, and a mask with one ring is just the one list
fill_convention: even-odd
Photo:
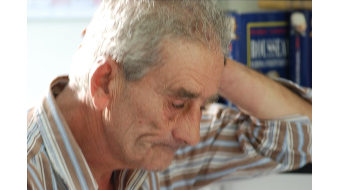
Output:
[[224,66],[220,50],[165,41],[163,65],[126,82],[112,104],[106,137],[129,168],[163,170],[183,145],[199,142],[206,102],[217,97]]

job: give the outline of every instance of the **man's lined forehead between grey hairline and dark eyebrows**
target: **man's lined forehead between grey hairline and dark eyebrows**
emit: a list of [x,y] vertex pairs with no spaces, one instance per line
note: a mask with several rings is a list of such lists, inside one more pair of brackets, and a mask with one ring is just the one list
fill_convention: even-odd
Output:
[[166,41],[166,45],[161,53],[163,63],[151,71],[158,88],[183,99],[217,99],[225,63],[222,52],[187,41]]

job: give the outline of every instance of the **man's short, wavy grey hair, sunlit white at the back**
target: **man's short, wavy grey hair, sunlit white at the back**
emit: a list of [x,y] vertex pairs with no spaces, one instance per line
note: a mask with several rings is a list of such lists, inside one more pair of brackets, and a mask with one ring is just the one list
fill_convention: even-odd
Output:
[[211,1],[103,1],[88,25],[73,60],[70,82],[88,90],[96,59],[109,56],[124,77],[140,79],[161,64],[164,39],[184,39],[228,55],[232,21]]

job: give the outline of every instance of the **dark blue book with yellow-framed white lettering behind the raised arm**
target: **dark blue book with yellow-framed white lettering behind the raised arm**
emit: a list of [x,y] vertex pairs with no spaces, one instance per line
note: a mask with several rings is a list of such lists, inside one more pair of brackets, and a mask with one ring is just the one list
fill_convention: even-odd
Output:
[[240,62],[269,77],[288,78],[288,13],[242,14]]

